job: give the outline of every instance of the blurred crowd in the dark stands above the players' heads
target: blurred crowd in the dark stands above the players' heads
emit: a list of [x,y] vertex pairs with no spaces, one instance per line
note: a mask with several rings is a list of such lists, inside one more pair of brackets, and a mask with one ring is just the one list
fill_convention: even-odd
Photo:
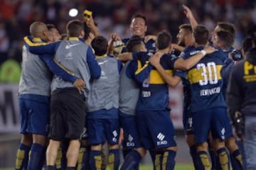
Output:
[[[237,48],[247,28],[256,23],[254,0],[0,0],[0,64],[8,60],[11,66],[18,63],[15,66],[18,69],[23,36],[28,35],[33,21],[53,23],[60,33],[65,33],[66,23],[73,19],[68,15],[70,8],[78,9],[75,18],[82,18],[85,9],[92,11],[100,33],[106,38],[113,32],[122,38],[129,37],[130,18],[134,13],[142,13],[148,19],[148,34],[167,29],[175,40],[178,26],[188,22],[182,4],[189,6],[198,23],[210,30],[218,21],[234,23],[237,29],[234,47]],[[8,68],[3,71],[1,67],[1,82],[9,78]],[[1,78],[3,76],[6,78]]]

